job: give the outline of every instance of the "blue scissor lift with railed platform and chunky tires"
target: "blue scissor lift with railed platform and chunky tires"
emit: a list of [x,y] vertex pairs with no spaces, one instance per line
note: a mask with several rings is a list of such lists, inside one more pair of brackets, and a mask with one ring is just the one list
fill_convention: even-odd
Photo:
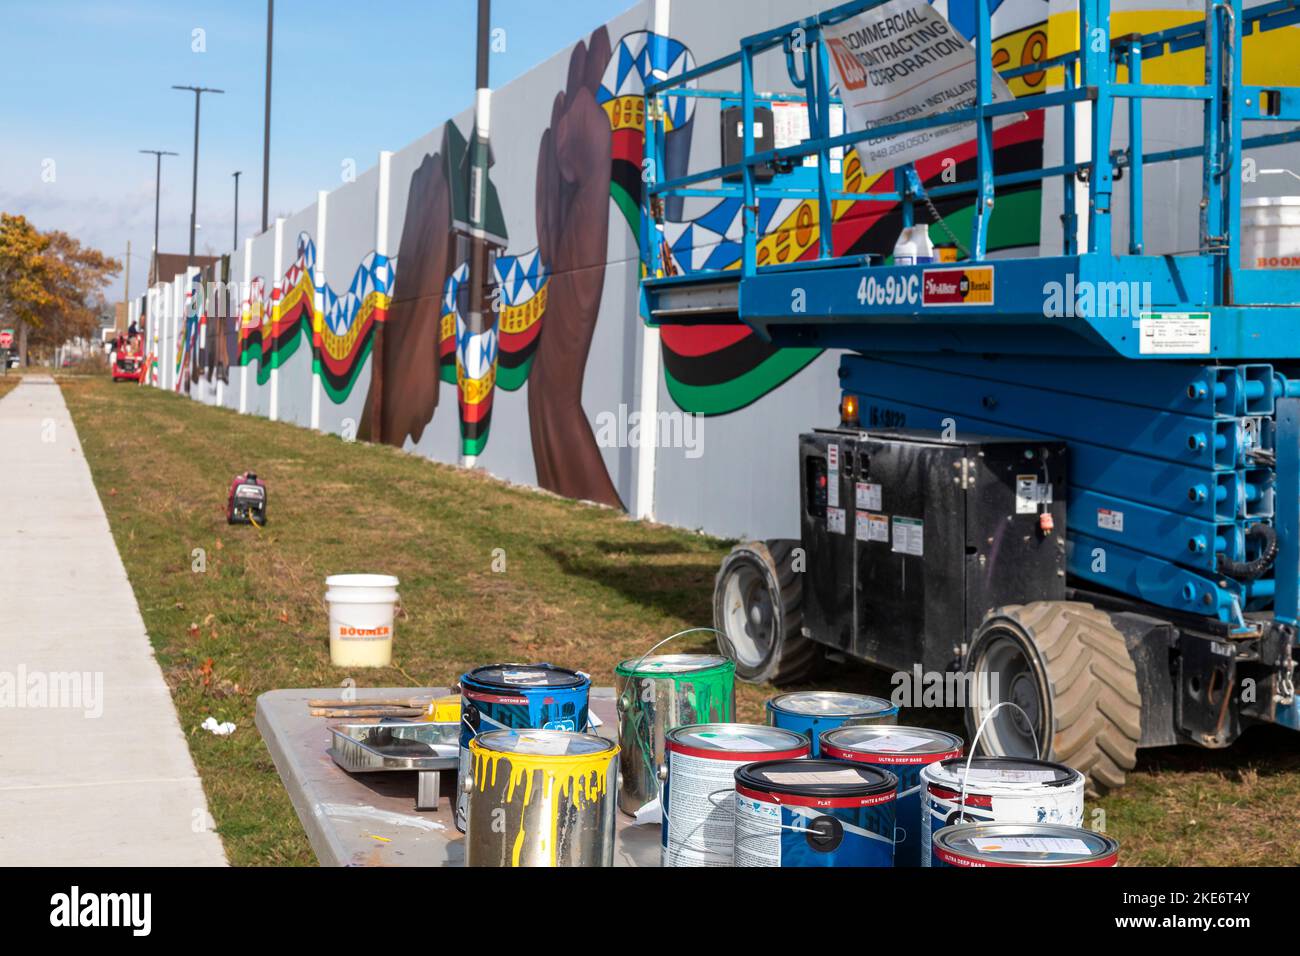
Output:
[[[827,436],[832,444],[842,440],[832,454],[844,455],[852,454],[853,441],[888,437],[894,428],[906,429],[911,440],[928,433],[961,441],[975,432],[1065,442],[1069,525],[1053,529],[1043,518],[1039,528],[1040,537],[1054,533],[1065,541],[1063,593],[1035,587],[1005,601],[1010,606],[983,607],[987,617],[976,628],[957,635],[950,650],[939,649],[949,667],[978,679],[967,701],[968,723],[1001,700],[1019,706],[993,714],[987,750],[1028,756],[1036,749],[1041,757],[1072,758],[1100,790],[1123,780],[1138,747],[1225,747],[1253,723],[1300,728],[1294,678],[1300,620],[1300,269],[1239,267],[1244,177],[1238,173],[1251,150],[1300,139],[1300,127],[1286,126],[1300,121],[1300,88],[1251,86],[1242,78],[1243,38],[1300,22],[1296,0],[1249,9],[1243,0],[1217,0],[1206,4],[1204,20],[1126,36],[1109,34],[1109,0],[1080,0],[1076,52],[1000,70],[1004,79],[1057,70],[1061,88],[1010,103],[993,101],[988,3],[971,0],[975,105],[831,135],[837,100],[823,30],[881,3],[858,0],[748,36],[737,52],[647,87],[651,177],[666,169],[663,105],[676,96],[738,103],[744,156],[732,165],[647,183],[644,315],[653,324],[742,323],[777,346],[849,350],[840,367],[842,420],[819,433],[823,458]],[[1205,51],[1202,83],[1141,81],[1145,61],[1192,48]],[[768,51],[785,56],[811,138],[759,151],[755,111],[790,99],[754,90],[755,57]],[[737,68],[738,91],[696,87],[705,75]],[[1128,104],[1123,150],[1110,146],[1117,100]],[[1200,144],[1144,152],[1148,100],[1201,103]],[[1087,125],[1079,133],[1075,114],[1083,108]],[[1052,168],[994,174],[994,120],[1036,109],[1063,113],[1065,159]],[[1258,121],[1273,124],[1268,134],[1244,138],[1243,124]],[[832,150],[954,122],[974,129],[970,181],[927,191],[915,170],[902,166],[894,170],[892,193],[846,194],[832,176]],[[806,176],[797,186],[757,176],[759,168],[806,156],[816,157],[815,185]],[[1158,164],[1197,156],[1199,247],[1145,254],[1145,176]],[[1128,179],[1127,248],[1114,248],[1112,241],[1113,183],[1119,176]],[[988,258],[998,190],[1035,179],[1062,183],[1061,254]],[[673,274],[664,254],[668,196],[742,200],[738,269]],[[879,256],[835,256],[832,230],[822,228],[815,259],[759,267],[758,204],[772,196],[815,202],[823,226],[832,222],[837,200],[897,204],[902,222],[911,225],[916,212],[933,209],[933,200],[972,196],[975,216],[959,261],[896,265]],[[1084,196],[1080,237],[1074,211]],[[1091,304],[1084,289],[1092,291]],[[1048,306],[1048,290],[1057,295],[1056,307]],[[1140,306],[1128,298],[1136,290]],[[918,438],[915,429],[933,431]],[[805,451],[802,540],[741,545],[719,572],[718,626],[749,679],[805,676],[815,657],[809,650],[816,645],[898,666],[883,645],[862,645],[849,633],[863,626],[861,615],[842,627],[835,619],[838,611],[828,610],[824,600],[818,598],[819,607],[807,606],[818,591],[809,578],[814,574],[855,579],[845,585],[857,589],[857,597],[849,594],[844,614],[853,613],[854,601],[868,604],[878,596],[868,583],[871,559],[861,557],[866,551],[819,563],[816,551],[832,546],[835,537],[814,527],[824,523],[824,507],[810,505],[816,490],[810,476],[824,485],[824,470],[809,471]],[[862,451],[863,464],[864,458]],[[832,468],[833,481],[838,458]],[[850,510],[846,532],[838,531],[853,536],[853,519]],[[792,597],[783,566],[796,546],[805,549],[809,568],[802,598],[800,588]],[[927,640],[933,644],[933,635]],[[937,659],[932,650],[922,659]],[[1079,670],[1088,671],[1087,689],[1071,683]],[[994,672],[1001,691],[987,689]]]

